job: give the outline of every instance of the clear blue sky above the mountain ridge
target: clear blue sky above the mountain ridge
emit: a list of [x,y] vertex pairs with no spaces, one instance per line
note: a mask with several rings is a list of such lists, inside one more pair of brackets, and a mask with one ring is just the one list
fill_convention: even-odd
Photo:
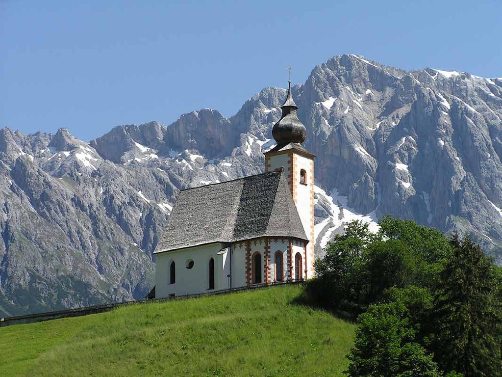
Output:
[[502,76],[502,2],[0,1],[0,127],[68,128],[235,114],[266,86],[355,53]]

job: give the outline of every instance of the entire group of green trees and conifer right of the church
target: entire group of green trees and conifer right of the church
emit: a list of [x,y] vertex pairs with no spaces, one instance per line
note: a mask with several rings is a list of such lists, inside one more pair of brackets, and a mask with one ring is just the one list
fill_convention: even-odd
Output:
[[357,319],[350,376],[502,376],[502,269],[472,239],[383,218],[346,225],[305,299]]

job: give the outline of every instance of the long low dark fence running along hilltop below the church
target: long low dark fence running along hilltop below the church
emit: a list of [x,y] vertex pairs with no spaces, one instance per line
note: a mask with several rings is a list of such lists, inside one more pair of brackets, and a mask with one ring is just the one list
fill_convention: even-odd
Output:
[[121,302],[121,303],[88,306],[85,308],[75,308],[75,309],[60,310],[60,311],[55,311],[55,312],[36,313],[36,314],[27,314],[24,316],[6,317],[6,318],[0,318],[0,326],[9,326],[9,325],[16,325],[16,324],[21,324],[21,323],[42,322],[42,321],[48,321],[48,320],[58,319],[58,318],[85,316],[87,314],[96,314],[96,313],[107,312],[112,309],[115,309],[115,308],[118,308],[121,306],[126,306],[126,305],[138,305],[138,304],[146,304],[146,303],[162,302],[162,301],[170,301],[170,300],[186,300],[189,298],[222,295],[222,294],[247,291],[247,290],[254,290],[254,289],[271,287],[271,286],[301,284],[301,282],[303,282],[303,280],[288,280],[288,281],[275,282],[272,284],[256,284],[256,285],[253,285],[250,287],[233,288],[230,290],[227,289],[227,290],[221,290],[221,291],[214,291],[214,292],[210,292],[210,293],[176,296],[176,297],[171,297],[171,298],[167,298],[167,299],[126,301],[126,302]]

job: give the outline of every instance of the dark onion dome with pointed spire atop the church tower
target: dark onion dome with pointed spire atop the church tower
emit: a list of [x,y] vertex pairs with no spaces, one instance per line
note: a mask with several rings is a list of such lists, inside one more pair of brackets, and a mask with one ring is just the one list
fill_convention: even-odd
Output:
[[291,94],[291,80],[289,80],[288,94],[281,109],[282,117],[272,128],[272,136],[277,144],[303,143],[307,138],[307,130],[296,114],[298,106],[296,106]]

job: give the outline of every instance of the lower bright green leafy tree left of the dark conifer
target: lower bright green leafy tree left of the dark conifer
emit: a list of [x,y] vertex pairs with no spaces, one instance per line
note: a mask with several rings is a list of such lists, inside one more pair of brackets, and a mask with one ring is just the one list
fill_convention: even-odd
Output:
[[432,355],[414,340],[415,330],[402,303],[370,305],[358,318],[346,373],[350,377],[440,377]]

